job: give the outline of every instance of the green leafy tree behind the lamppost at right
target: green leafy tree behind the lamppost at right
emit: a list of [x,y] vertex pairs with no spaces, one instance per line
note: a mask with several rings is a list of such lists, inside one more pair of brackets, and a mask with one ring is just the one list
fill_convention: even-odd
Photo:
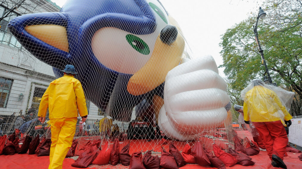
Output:
[[[302,3],[266,0],[267,16],[259,19],[258,36],[269,73],[279,87],[295,92],[291,113],[299,115],[302,101]],[[265,75],[265,66],[253,33],[257,13],[227,29],[220,46],[229,88],[242,91],[248,82]],[[229,92],[230,94],[230,92]],[[234,95],[234,94],[233,94]],[[240,98],[236,95],[237,103]]]

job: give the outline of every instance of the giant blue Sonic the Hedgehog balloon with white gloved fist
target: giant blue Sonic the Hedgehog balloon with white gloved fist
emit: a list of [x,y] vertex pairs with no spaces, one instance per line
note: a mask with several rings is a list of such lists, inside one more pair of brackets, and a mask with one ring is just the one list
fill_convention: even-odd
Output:
[[159,1],[69,0],[60,12],[16,17],[8,28],[57,77],[74,65],[86,98],[113,119],[130,121],[146,99],[156,117],[162,110],[158,123],[168,121],[159,124],[163,132],[190,140],[226,118],[229,98],[214,59],[179,65],[185,41]]

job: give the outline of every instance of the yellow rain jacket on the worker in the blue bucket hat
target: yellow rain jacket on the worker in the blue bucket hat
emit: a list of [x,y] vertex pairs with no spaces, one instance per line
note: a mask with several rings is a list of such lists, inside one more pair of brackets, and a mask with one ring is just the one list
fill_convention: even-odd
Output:
[[80,81],[73,75],[65,74],[52,81],[40,102],[39,117],[45,117],[49,108],[49,118],[72,118],[88,114],[84,91]]

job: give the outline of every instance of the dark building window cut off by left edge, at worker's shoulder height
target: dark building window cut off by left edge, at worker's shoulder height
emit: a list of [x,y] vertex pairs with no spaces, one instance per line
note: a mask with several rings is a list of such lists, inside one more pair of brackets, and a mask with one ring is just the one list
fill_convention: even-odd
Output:
[[12,79],[0,77],[0,107],[6,108],[11,93]]

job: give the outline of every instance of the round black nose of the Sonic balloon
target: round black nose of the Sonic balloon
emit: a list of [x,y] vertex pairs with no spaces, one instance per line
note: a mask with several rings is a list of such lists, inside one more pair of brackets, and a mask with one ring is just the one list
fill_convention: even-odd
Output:
[[178,31],[175,26],[167,25],[160,32],[159,38],[163,43],[165,43],[167,45],[171,45],[176,40],[177,34],[178,34]]

